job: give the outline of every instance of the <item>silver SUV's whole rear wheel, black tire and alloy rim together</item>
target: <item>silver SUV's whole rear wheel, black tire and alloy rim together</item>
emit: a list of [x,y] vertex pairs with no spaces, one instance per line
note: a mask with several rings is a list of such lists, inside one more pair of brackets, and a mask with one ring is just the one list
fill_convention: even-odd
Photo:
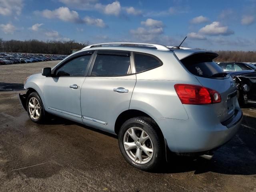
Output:
[[141,170],[153,170],[164,154],[163,142],[148,118],[131,118],[118,134],[119,147],[125,160]]

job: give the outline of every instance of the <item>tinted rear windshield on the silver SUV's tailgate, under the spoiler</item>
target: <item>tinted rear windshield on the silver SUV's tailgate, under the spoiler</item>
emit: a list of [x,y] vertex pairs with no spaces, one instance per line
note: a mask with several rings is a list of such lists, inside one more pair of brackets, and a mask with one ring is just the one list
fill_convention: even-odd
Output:
[[223,69],[213,61],[217,54],[194,54],[181,60],[184,66],[194,75],[213,78],[216,74],[222,74]]

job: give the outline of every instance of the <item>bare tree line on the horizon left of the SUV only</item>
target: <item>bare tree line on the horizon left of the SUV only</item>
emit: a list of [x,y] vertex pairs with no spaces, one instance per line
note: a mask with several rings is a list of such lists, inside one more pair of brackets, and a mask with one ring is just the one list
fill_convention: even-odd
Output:
[[0,52],[42,53],[69,55],[72,49],[80,50],[89,42],[78,43],[71,41],[38,41],[38,40],[2,40],[0,38]]

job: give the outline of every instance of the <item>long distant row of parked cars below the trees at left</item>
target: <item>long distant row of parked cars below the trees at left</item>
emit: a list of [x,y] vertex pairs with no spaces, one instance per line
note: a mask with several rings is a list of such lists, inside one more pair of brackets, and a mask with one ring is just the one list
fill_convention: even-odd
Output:
[[40,61],[62,60],[67,55],[31,54],[31,53],[0,53],[0,64],[19,64]]

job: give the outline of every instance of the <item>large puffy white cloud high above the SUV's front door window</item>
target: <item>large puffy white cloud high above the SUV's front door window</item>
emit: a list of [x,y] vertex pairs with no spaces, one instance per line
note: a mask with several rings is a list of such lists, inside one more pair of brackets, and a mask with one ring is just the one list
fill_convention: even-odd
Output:
[[79,15],[76,11],[70,11],[67,7],[60,7],[55,10],[43,10],[42,16],[48,19],[52,18],[58,18],[60,20],[66,21],[66,22],[78,22]]

